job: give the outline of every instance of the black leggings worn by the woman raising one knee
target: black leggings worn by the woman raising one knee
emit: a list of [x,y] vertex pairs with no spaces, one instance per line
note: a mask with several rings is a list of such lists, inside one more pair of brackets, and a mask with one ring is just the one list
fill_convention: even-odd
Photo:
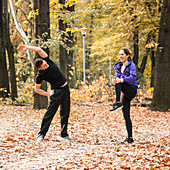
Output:
[[128,138],[132,137],[132,121],[130,119],[130,102],[136,96],[137,87],[128,83],[119,83],[115,85],[116,101],[122,103],[123,116],[126,123]]

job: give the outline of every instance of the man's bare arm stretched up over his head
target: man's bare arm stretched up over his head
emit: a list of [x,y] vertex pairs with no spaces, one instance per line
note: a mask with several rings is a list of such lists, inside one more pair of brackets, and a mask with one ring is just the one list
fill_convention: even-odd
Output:
[[40,47],[20,45],[18,49],[20,49],[21,51],[31,50],[37,52],[42,58],[48,57],[47,53],[43,51]]

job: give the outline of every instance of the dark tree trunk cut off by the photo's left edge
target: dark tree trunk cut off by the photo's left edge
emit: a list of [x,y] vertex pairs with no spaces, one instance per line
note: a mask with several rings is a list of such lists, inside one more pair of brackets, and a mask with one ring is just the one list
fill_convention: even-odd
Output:
[[0,1],[0,97],[7,97],[9,93],[9,79],[5,55],[4,42],[3,1]]

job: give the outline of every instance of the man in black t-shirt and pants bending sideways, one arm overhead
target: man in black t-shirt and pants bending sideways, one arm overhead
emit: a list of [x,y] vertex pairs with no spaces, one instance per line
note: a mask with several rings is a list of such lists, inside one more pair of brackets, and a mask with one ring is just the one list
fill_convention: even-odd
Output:
[[[67,134],[68,118],[70,114],[70,91],[67,85],[67,79],[60,71],[58,66],[49,59],[45,51],[39,47],[20,45],[21,51],[31,50],[37,52],[41,58],[34,61],[34,66],[38,68],[38,74],[35,79],[35,92],[50,97],[50,103],[45,113],[37,141],[42,142],[50,127],[51,121],[60,106],[61,119],[61,137],[69,141],[72,140]],[[51,91],[46,92],[41,87],[42,80],[50,83]]]

